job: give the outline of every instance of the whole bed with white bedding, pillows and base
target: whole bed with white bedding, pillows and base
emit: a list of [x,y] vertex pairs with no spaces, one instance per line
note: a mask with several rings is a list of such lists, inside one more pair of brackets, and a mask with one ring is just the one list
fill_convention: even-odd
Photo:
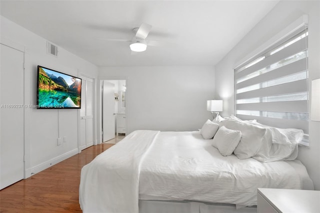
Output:
[[[81,170],[82,211],[256,212],[257,188],[313,190],[305,167],[295,160],[297,132],[295,138],[287,130],[277,135],[281,130],[235,118],[206,124],[200,131],[134,131],[98,155]],[[233,143],[227,149],[225,138]],[[258,146],[246,150],[243,144],[252,140]],[[250,151],[254,155],[248,157]]]

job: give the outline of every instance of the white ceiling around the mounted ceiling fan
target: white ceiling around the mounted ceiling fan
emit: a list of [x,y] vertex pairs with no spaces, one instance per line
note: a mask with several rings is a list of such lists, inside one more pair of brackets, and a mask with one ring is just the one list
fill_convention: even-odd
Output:
[[[1,0],[1,15],[98,66],[214,65],[278,0]],[[131,54],[132,28],[160,46]]]

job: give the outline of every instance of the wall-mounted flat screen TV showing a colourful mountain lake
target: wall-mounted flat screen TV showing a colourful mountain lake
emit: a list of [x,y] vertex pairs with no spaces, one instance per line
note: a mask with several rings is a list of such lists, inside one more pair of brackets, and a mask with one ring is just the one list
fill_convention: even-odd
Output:
[[38,109],[80,109],[81,78],[37,66]]

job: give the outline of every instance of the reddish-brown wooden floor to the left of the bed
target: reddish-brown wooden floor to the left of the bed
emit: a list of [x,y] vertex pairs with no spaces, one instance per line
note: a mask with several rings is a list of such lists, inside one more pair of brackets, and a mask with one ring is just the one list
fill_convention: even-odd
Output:
[[102,143],[82,150],[28,179],[0,191],[1,213],[81,213],[81,168],[114,144]]

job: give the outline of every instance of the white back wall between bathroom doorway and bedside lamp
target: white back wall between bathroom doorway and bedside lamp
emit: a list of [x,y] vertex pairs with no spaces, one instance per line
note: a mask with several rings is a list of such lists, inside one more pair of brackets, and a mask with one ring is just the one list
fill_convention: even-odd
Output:
[[127,133],[138,129],[188,131],[201,128],[214,94],[209,66],[100,67],[100,79],[126,81]]

